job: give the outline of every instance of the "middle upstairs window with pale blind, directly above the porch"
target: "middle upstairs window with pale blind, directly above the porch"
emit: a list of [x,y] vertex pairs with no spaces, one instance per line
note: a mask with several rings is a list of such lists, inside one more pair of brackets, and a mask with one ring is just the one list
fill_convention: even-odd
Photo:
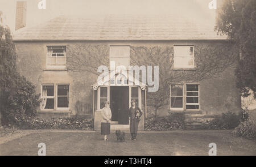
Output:
[[115,67],[125,66],[128,70],[130,65],[130,46],[110,46],[110,61],[115,62]]

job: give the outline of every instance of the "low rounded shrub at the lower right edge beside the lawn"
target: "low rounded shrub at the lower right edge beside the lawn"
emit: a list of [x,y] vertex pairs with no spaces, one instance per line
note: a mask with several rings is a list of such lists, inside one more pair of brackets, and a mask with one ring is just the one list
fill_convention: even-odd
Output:
[[253,120],[243,121],[232,133],[236,136],[256,140],[256,123]]

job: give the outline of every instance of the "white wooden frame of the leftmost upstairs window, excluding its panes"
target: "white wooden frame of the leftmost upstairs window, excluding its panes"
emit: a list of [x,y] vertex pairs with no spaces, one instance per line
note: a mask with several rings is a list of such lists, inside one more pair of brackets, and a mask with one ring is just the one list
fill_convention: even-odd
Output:
[[[65,65],[64,66],[59,66],[59,65],[49,65],[51,63],[48,63],[48,57],[53,57],[52,54],[53,53],[48,53],[48,47],[54,47],[54,46],[64,46],[65,47],[65,51],[66,52],[63,52],[63,53],[54,53],[54,54],[64,54],[64,58],[65,58]],[[67,46],[65,45],[47,45],[46,46],[46,67],[47,68],[60,68],[60,69],[63,69],[63,68],[66,68],[66,65],[67,65]],[[64,63],[57,63],[57,55],[55,56],[56,57],[56,62],[55,63],[52,63],[52,64],[64,64]]]

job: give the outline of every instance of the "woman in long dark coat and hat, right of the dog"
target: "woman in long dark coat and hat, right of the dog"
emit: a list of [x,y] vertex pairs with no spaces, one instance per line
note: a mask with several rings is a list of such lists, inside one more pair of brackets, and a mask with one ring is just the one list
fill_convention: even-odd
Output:
[[131,140],[136,140],[139,121],[141,121],[142,111],[136,106],[137,101],[131,101],[131,108],[129,109],[130,132]]

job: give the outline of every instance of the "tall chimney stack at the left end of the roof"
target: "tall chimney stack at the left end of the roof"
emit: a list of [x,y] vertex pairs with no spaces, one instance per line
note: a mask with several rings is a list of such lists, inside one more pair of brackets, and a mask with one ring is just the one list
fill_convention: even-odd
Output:
[[26,27],[27,1],[17,1],[15,30]]

